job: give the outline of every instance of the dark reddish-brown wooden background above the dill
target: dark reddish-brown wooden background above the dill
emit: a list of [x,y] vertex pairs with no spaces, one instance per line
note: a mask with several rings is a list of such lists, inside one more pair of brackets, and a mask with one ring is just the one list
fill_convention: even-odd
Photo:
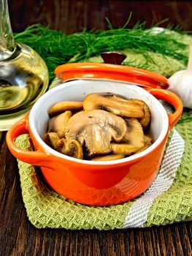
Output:
[[192,31],[192,1],[126,0],[8,0],[13,31],[23,31],[33,23],[71,34],[82,29],[107,29],[106,17],[114,28],[123,26],[133,13],[129,27],[138,20],[153,23],[168,18],[168,23]]

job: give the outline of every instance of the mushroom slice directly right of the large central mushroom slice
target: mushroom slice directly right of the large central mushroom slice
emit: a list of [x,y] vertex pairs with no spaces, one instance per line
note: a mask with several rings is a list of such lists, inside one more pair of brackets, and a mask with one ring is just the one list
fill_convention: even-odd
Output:
[[124,118],[127,132],[120,143],[111,143],[115,154],[134,154],[145,146],[143,129],[137,118]]

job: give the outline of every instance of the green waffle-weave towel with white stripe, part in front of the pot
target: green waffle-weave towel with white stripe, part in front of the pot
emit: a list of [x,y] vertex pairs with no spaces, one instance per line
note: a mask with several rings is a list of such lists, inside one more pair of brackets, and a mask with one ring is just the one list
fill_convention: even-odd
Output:
[[[192,220],[192,110],[185,110],[170,132],[158,176],[134,200],[116,206],[84,206],[47,186],[39,167],[18,160],[20,185],[28,219],[35,227],[111,230],[150,227]],[[28,135],[16,139],[30,151]]]

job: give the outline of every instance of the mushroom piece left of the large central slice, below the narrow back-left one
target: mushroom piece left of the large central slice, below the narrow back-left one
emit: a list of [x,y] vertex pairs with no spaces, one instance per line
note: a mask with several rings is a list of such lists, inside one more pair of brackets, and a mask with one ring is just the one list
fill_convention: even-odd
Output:
[[57,132],[59,138],[64,138],[65,126],[71,116],[72,112],[68,110],[58,116],[50,118],[47,132]]

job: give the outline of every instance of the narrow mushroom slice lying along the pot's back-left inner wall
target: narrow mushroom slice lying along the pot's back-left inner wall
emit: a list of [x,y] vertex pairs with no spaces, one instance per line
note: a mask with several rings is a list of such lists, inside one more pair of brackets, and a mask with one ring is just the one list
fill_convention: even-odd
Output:
[[48,114],[50,117],[53,117],[63,113],[66,110],[82,110],[82,102],[58,102],[48,110]]

